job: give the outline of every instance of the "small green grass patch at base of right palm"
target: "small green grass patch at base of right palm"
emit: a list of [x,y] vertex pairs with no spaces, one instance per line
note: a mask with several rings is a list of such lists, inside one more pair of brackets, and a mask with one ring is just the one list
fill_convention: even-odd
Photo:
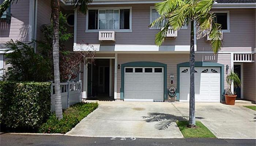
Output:
[[188,128],[188,121],[177,121],[184,138],[216,138],[203,123],[196,121],[196,128]]

